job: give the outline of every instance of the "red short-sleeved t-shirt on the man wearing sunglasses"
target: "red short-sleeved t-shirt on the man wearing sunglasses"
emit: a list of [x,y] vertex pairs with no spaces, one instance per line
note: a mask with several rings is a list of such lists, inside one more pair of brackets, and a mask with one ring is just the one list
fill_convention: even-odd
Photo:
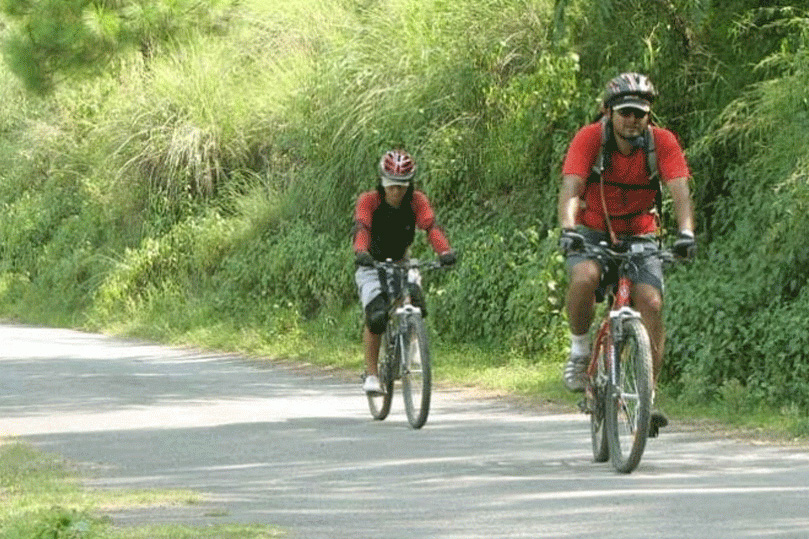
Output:
[[[582,127],[568,148],[562,174],[588,178],[601,149],[601,122]],[[675,178],[688,178],[691,173],[674,133],[652,126],[657,154],[657,169],[662,183]],[[649,185],[646,171],[646,152],[637,148],[629,155],[613,151],[610,166],[604,171],[604,198],[613,230],[618,234],[648,234],[656,228],[654,207],[655,190]],[[601,190],[598,183],[588,183],[584,194],[584,209],[577,222],[606,230]]]

